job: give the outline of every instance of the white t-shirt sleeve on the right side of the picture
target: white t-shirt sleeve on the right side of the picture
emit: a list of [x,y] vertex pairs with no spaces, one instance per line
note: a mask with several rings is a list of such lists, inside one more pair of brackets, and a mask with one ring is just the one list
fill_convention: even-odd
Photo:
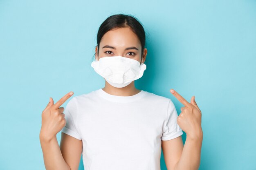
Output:
[[167,109],[167,119],[165,121],[161,137],[162,141],[171,140],[183,134],[182,129],[177,124],[177,117],[177,110],[170,99]]

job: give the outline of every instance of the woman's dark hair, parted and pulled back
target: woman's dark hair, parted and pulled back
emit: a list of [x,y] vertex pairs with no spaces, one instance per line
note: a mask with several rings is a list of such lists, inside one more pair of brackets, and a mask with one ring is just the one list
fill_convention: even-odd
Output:
[[[115,14],[109,16],[106,20],[104,20],[99,27],[99,31],[97,34],[97,45],[98,45],[98,54],[99,54],[99,43],[101,42],[101,38],[105,33],[112,29],[122,28],[122,27],[130,27],[132,31],[137,35],[139,41],[141,42],[141,60],[143,57],[144,47],[146,45],[146,35],[143,24],[137,20],[132,15],[126,14]],[[94,53],[95,55],[96,53]]]

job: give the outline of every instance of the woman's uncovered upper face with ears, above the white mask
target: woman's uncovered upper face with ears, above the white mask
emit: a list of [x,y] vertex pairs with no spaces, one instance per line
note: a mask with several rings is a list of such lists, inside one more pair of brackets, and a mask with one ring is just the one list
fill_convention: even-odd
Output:
[[98,46],[95,49],[96,60],[99,60],[101,57],[111,56],[128,57],[140,63],[144,63],[146,60],[147,49],[144,48],[141,60],[141,43],[130,27],[108,31],[103,35],[99,47],[99,54],[97,53]]

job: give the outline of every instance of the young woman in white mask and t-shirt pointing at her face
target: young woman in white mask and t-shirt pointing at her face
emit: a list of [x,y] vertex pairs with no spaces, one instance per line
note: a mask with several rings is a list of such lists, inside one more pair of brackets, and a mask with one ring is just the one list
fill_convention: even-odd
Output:
[[[198,170],[201,111],[184,104],[179,117],[171,99],[135,88],[146,65],[145,32],[131,15],[112,15],[100,26],[91,66],[105,87],[73,97],[67,93],[42,112],[40,144],[46,170],[160,170],[161,148],[168,170]],[[183,146],[182,130],[186,132]],[[58,146],[56,134],[61,133]]]

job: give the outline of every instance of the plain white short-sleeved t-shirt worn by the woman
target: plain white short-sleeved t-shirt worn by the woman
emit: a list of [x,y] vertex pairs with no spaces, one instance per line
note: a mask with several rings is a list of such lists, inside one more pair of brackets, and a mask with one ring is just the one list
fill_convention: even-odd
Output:
[[85,170],[160,170],[161,140],[183,134],[171,99],[141,90],[116,96],[101,88],[73,97],[61,132],[82,140]]

